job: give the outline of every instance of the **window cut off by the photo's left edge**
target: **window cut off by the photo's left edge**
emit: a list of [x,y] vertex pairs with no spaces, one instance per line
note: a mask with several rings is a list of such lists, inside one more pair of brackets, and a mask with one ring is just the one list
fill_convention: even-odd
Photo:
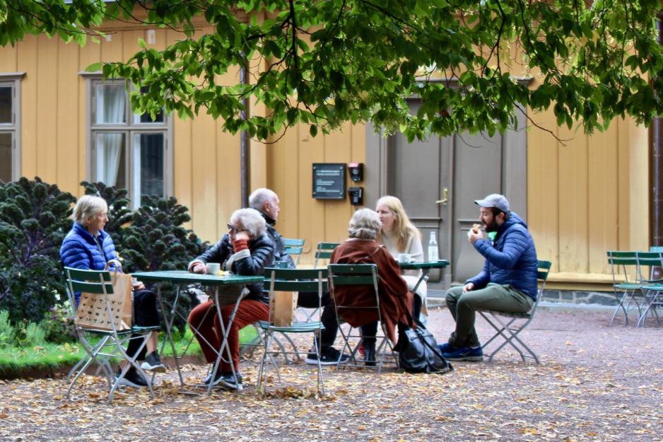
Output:
[[22,74],[0,74],[0,180],[20,176],[19,107]]

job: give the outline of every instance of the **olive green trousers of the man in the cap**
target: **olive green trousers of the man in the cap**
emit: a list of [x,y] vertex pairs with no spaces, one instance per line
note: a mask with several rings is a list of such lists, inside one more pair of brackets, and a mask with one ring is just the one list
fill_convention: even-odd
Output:
[[510,285],[488,284],[483,289],[463,293],[463,287],[452,287],[447,291],[447,307],[456,321],[456,331],[451,334],[452,347],[479,347],[479,337],[474,330],[476,310],[499,310],[503,312],[528,312],[534,299]]

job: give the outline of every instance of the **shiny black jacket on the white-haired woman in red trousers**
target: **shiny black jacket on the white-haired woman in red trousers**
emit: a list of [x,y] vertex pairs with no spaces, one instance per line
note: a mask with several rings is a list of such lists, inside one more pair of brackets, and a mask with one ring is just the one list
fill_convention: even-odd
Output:
[[[233,265],[229,270],[235,274],[243,276],[259,275],[262,277],[262,275],[264,275],[265,267],[269,267],[274,261],[274,243],[272,243],[269,235],[264,233],[264,235],[259,238],[254,238],[249,241],[249,251],[251,252],[249,257],[236,260],[233,262]],[[194,261],[201,261],[205,264],[208,262],[218,262],[223,268],[225,262],[233,256],[234,253],[235,251],[230,245],[230,237],[228,236],[228,233],[226,233],[218,243],[213,245],[199,257],[196,257]],[[247,295],[245,299],[254,299],[269,304],[269,294],[263,291],[262,282],[248,284],[247,289],[249,289],[250,294]]]

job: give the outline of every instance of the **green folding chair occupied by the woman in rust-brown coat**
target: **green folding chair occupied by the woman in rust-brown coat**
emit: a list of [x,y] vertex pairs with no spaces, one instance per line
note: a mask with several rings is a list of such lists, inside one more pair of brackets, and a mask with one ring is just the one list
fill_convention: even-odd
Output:
[[[344,362],[343,365],[373,368],[372,366],[364,365],[363,361],[357,361],[356,355],[358,354],[359,347],[361,345],[361,339],[363,338],[361,335],[361,329],[359,327],[348,327],[348,330],[344,330],[344,328],[340,326],[343,322],[343,310],[377,310],[377,320],[378,324],[380,325],[380,327],[378,327],[378,335],[375,336],[375,359],[379,359],[379,361],[375,361],[377,362],[377,372],[382,372],[382,364],[385,360],[385,354],[387,354],[387,350],[394,358],[396,368],[398,368],[398,355],[394,351],[392,343],[389,342],[389,339],[387,339],[387,332],[385,330],[385,325],[382,322],[382,315],[380,314],[380,294],[378,292],[377,286],[379,281],[379,278],[377,277],[377,265],[329,264],[327,268],[329,269],[331,300],[334,303],[336,320],[339,323],[339,331],[341,332],[341,337],[343,337],[344,342],[344,347],[341,349],[341,354],[343,354],[346,349],[350,353],[350,358],[347,362]],[[339,286],[371,286],[373,292],[375,293],[375,306],[356,307],[339,304],[336,296],[334,296],[334,291],[336,287]],[[382,334],[380,334],[380,331],[382,331]],[[336,367],[340,366],[341,361],[339,360],[338,364],[336,364]]]

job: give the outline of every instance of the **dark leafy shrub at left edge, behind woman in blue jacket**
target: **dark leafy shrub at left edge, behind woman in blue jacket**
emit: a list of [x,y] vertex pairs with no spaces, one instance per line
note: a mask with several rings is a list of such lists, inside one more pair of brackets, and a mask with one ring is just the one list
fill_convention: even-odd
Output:
[[0,182],[0,309],[11,322],[39,322],[66,293],[59,248],[75,201],[38,177]]

